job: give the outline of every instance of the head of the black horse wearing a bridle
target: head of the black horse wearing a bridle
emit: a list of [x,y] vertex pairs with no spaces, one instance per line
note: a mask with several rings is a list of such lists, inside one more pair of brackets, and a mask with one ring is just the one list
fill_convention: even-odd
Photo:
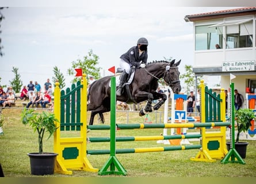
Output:
[[175,63],[175,59],[172,60],[170,64],[166,66],[165,75],[163,76],[163,80],[165,80],[165,82],[171,87],[173,93],[176,94],[181,91],[178,70],[179,63],[181,63],[181,60],[179,60],[177,63]]

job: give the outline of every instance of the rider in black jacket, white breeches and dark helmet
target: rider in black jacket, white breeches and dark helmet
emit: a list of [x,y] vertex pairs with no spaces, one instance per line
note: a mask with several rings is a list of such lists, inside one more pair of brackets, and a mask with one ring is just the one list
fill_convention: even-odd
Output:
[[120,67],[124,70],[120,76],[119,87],[116,91],[117,96],[121,96],[123,85],[127,80],[131,66],[145,68],[147,63],[147,45],[146,38],[141,37],[137,40],[137,46],[133,46],[126,53],[120,56]]

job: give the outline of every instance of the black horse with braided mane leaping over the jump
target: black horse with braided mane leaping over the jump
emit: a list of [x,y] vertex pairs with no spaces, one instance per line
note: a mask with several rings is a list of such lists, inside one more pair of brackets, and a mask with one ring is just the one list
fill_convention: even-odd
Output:
[[[179,81],[178,66],[181,63],[179,60],[175,63],[175,59],[171,62],[165,60],[153,61],[146,64],[145,68],[136,68],[132,83],[127,87],[130,93],[124,90],[120,97],[116,97],[117,101],[127,102],[128,104],[147,101],[146,106],[139,111],[139,116],[144,116],[158,110],[166,101],[166,94],[157,93],[159,79],[171,87],[174,93],[178,94],[181,91]],[[110,111],[110,78],[105,76],[93,82],[88,90],[87,111],[91,111],[89,125],[93,125],[94,116],[100,115],[101,122],[104,123],[103,113]],[[124,87],[125,89],[125,87]],[[130,95],[132,98],[129,98]],[[154,99],[161,99],[157,104],[151,106]]]

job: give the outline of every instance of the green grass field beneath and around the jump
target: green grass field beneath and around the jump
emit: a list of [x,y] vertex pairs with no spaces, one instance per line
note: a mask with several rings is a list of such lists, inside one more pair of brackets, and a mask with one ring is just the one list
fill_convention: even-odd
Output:
[[[30,174],[28,152],[37,152],[37,134],[32,128],[24,126],[20,120],[21,109],[3,109],[7,122],[0,136],[0,162],[6,177],[35,177]],[[89,117],[87,117],[89,118]],[[106,116],[109,124],[109,114]],[[129,117],[131,122],[143,122],[144,117],[137,114]],[[154,113],[151,118],[154,120]],[[117,122],[126,123],[126,114],[117,113]],[[97,124],[97,122],[96,122]],[[195,131],[195,130],[193,130]],[[117,136],[160,135],[162,129],[139,129],[117,131]],[[109,136],[109,131],[90,131],[89,137]],[[47,135],[45,139],[47,139]],[[190,141],[192,142],[192,141]],[[53,152],[53,137],[44,142],[44,151]],[[197,141],[192,142],[197,144]],[[162,147],[156,141],[118,142],[117,148]],[[89,143],[88,150],[109,149],[109,143]],[[117,154],[117,159],[127,170],[127,177],[256,177],[256,141],[249,141],[246,164],[217,162],[194,162],[198,150],[152,152],[143,154]],[[101,168],[109,155],[88,156],[95,168]],[[47,175],[44,177],[100,177],[97,173],[73,171],[73,175]],[[108,177],[108,176],[106,176]]]

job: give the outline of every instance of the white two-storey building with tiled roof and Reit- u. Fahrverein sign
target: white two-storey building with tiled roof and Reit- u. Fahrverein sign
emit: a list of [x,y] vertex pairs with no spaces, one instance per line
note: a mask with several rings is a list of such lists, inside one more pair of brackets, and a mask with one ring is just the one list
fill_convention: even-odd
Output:
[[221,76],[221,87],[228,89],[233,74],[235,89],[244,98],[246,88],[256,93],[256,7],[193,14],[184,19],[193,22],[196,76]]

